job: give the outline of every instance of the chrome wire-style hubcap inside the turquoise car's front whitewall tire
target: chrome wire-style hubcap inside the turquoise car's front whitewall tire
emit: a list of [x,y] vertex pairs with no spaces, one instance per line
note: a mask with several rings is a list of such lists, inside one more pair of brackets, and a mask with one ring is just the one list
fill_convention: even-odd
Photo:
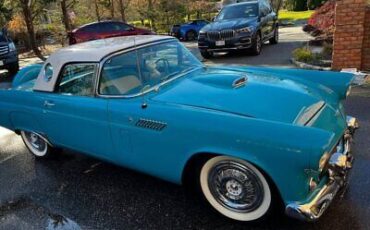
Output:
[[258,176],[238,162],[220,162],[211,169],[208,184],[217,202],[236,212],[251,212],[263,200],[263,186]]

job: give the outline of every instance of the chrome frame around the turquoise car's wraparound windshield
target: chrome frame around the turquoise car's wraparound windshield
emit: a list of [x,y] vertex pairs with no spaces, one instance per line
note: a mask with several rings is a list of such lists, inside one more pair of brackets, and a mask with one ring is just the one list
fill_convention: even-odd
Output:
[[[159,44],[163,44],[163,43],[169,43],[169,42],[173,42],[173,41],[177,41],[177,39],[175,38],[169,38],[169,39],[164,39],[162,41],[155,41],[155,42],[149,42],[149,43],[145,43],[145,44],[141,44],[139,46],[134,46],[134,47],[130,47],[130,48],[127,48],[127,49],[124,49],[124,50],[120,50],[120,51],[117,51],[117,52],[114,52],[114,53],[111,53],[109,55],[107,55],[106,57],[104,57],[100,62],[99,62],[99,70],[98,70],[98,75],[97,75],[97,81],[96,81],[96,84],[95,84],[95,95],[97,97],[101,97],[101,98],[136,98],[136,97],[139,97],[139,96],[142,96],[142,95],[145,95],[145,94],[148,94],[150,92],[153,92],[153,91],[158,91],[158,89],[167,84],[167,83],[170,83],[188,73],[191,73],[193,71],[196,71],[196,70],[199,70],[201,68],[204,67],[204,65],[201,65],[199,67],[194,67],[193,69],[189,70],[189,71],[186,71],[184,73],[181,73],[181,74],[178,74],[176,77],[173,77],[171,79],[168,79],[164,82],[161,82],[157,85],[154,85],[150,88],[148,88],[147,90],[144,90],[142,92],[139,92],[139,93],[135,93],[135,94],[129,94],[129,95],[107,95],[107,94],[100,94],[99,93],[99,85],[100,85],[100,80],[101,80],[101,76],[102,76],[102,71],[103,71],[103,68],[104,68],[104,64],[107,62],[107,60],[109,60],[110,58],[112,57],[115,57],[117,55],[121,55],[121,54],[125,54],[125,53],[128,53],[128,52],[131,52],[131,51],[136,51],[138,50],[139,48],[145,48],[145,47],[150,47],[150,46],[153,46],[153,45],[159,45]],[[140,66],[138,65],[137,68],[140,69]]]

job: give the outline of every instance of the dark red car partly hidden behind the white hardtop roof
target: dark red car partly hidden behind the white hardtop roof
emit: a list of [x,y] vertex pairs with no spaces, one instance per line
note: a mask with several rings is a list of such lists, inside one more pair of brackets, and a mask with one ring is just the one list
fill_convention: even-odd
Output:
[[68,34],[69,44],[103,38],[155,34],[151,30],[136,28],[120,21],[103,21],[83,25]]

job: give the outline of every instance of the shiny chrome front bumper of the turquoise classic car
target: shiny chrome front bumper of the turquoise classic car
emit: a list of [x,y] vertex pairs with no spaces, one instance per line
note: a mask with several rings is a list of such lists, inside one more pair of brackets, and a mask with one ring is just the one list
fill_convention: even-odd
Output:
[[348,174],[352,168],[353,156],[351,144],[358,121],[354,117],[347,117],[347,130],[343,136],[343,147],[340,152],[334,153],[329,160],[328,180],[307,203],[293,202],[286,206],[288,216],[303,221],[315,221],[329,207],[335,195],[347,184]]

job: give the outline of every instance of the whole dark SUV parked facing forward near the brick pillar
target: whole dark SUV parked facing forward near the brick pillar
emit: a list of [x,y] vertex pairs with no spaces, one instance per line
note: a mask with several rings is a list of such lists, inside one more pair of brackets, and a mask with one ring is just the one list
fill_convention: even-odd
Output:
[[258,55],[265,41],[276,44],[278,39],[278,18],[270,2],[248,1],[225,6],[199,32],[198,47],[204,58],[234,50]]

